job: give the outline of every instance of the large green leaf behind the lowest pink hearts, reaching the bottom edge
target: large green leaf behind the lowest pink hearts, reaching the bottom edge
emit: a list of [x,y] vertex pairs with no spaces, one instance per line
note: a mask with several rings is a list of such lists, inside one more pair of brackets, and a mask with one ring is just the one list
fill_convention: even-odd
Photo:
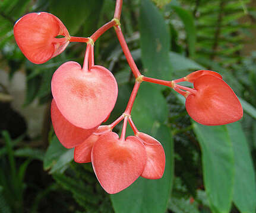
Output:
[[[158,180],[139,178],[129,188],[111,195],[113,207],[118,213],[166,211],[173,180],[173,141],[169,128],[163,124],[167,118],[166,101],[156,86],[147,83],[141,85],[132,108],[132,120],[139,131],[150,134],[162,143],[166,154],[165,174]],[[128,134],[132,134],[131,131]]]

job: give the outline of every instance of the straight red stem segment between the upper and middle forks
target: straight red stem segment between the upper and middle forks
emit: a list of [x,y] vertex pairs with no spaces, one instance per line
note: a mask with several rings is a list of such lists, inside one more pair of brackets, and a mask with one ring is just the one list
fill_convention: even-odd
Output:
[[140,71],[138,70],[138,67],[136,66],[131,53],[129,51],[129,48],[127,46],[127,43],[125,41],[124,35],[122,34],[121,27],[115,27],[116,35],[118,36],[119,43],[121,44],[122,50],[124,51],[125,57],[127,58],[127,62],[129,66],[131,67],[132,73],[137,78],[141,75]]

